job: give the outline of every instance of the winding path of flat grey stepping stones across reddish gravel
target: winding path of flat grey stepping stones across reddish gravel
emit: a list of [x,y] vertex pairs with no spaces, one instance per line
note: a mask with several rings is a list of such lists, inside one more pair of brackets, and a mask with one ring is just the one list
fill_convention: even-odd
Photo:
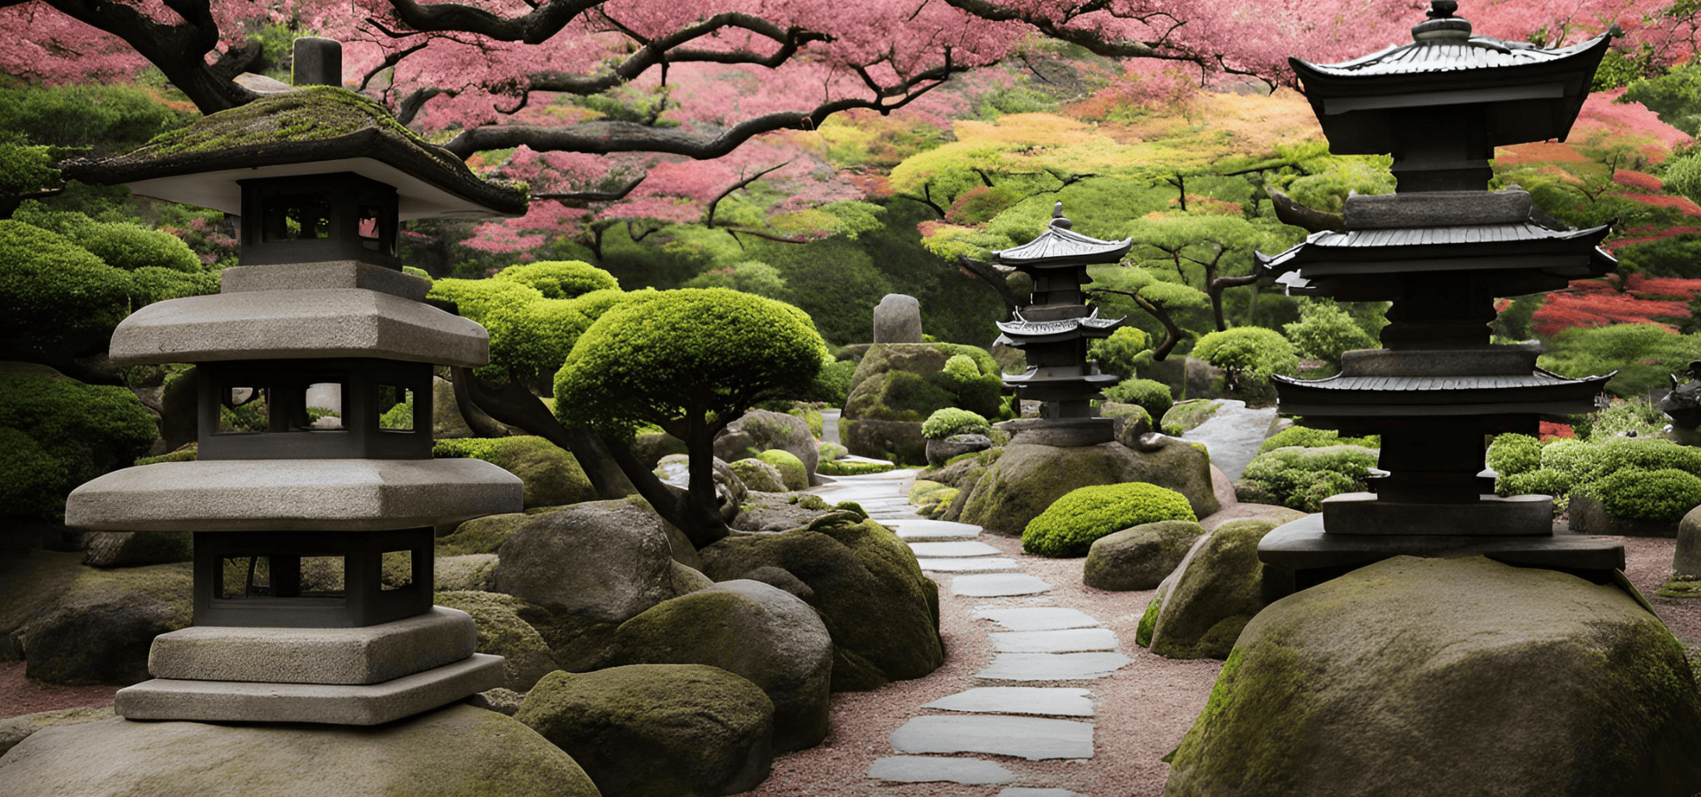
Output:
[[[941,581],[941,600],[1022,598],[1051,590],[1022,573],[1021,559],[978,542],[978,525],[915,515],[908,503],[913,481],[915,471],[888,471],[833,478],[810,491],[828,503],[857,501],[908,542],[922,571]],[[1024,777],[1019,761],[1092,758],[1092,681],[1133,659],[1119,651],[1116,634],[1075,608],[988,607],[975,612],[975,619],[990,620],[988,639],[997,651],[975,673],[983,685],[919,705],[893,731],[893,755],[876,760],[868,777],[905,783],[1022,783],[1005,787],[997,797],[1092,797],[1050,787],[1041,775]],[[1022,681],[1073,683],[1022,687]],[[993,756],[1004,760],[988,760]]]

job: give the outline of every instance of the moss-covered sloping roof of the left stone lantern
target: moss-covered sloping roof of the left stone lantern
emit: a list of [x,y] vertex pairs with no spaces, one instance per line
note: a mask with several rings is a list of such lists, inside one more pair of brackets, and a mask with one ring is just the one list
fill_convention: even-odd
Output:
[[260,97],[165,133],[112,158],[61,165],[68,178],[242,212],[236,180],[354,172],[395,185],[401,219],[526,212],[526,187],[481,180],[447,150],[403,127],[378,102],[340,87]]

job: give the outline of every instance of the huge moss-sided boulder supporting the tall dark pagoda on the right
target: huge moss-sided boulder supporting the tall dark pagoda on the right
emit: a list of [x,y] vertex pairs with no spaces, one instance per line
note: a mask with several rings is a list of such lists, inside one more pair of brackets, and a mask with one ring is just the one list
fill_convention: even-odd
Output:
[[1163,794],[1687,797],[1696,749],[1694,676],[1638,598],[1402,556],[1260,612]]

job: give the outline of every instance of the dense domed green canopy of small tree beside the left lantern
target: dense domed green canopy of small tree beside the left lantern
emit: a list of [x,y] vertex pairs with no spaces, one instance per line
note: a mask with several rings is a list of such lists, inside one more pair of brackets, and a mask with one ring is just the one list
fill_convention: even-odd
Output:
[[655,423],[696,445],[687,425],[799,394],[825,357],[798,308],[720,287],[667,291],[611,308],[578,336],[555,377],[555,413],[619,435]]

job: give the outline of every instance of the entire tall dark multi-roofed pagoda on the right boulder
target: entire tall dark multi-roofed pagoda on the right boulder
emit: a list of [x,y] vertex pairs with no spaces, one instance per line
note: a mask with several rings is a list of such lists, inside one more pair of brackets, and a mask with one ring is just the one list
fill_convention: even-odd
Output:
[[1344,229],[1259,268],[1291,296],[1391,301],[1385,348],[1347,352],[1328,379],[1276,377],[1279,410],[1344,433],[1381,435],[1373,493],[1264,537],[1267,591],[1283,595],[1397,554],[1449,551],[1606,578],[1609,540],[1553,535],[1551,496],[1495,496],[1483,438],[1536,435],[1538,420],[1587,413],[1613,374],[1565,379],[1536,348],[1490,345],[1495,297],[1565,287],[1616,262],[1607,228],[1538,221],[1529,194],[1488,192],[1495,146],[1565,139],[1609,34],[1558,49],[1471,36],[1436,0],[1414,41],[1339,65],[1291,59],[1337,155],[1391,153],[1398,189],[1352,195]]

